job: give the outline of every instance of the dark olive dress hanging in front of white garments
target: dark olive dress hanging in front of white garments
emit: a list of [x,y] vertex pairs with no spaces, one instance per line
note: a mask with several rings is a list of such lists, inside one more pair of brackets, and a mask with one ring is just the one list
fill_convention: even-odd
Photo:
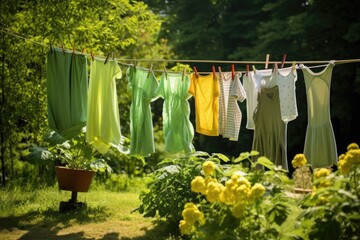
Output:
[[254,112],[253,150],[288,170],[286,156],[286,124],[281,120],[278,86],[261,88]]

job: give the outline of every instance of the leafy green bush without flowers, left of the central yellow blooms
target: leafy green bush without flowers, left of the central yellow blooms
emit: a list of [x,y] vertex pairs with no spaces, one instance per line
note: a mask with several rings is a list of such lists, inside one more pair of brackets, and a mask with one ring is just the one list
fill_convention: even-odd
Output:
[[220,162],[229,159],[222,154],[195,152],[187,157],[161,161],[159,168],[148,175],[147,189],[141,192],[141,204],[136,210],[144,217],[158,215],[176,226],[185,203],[197,199],[197,195],[189,191],[190,183],[195,176],[200,175],[204,161],[214,162],[220,172]]

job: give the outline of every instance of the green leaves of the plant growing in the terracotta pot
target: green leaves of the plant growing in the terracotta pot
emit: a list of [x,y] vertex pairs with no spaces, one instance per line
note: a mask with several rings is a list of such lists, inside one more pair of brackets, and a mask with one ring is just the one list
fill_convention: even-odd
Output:
[[26,159],[31,163],[57,161],[57,164],[72,169],[111,172],[111,167],[86,142],[84,129],[70,140],[54,131],[49,132],[44,141],[48,146],[30,147]]

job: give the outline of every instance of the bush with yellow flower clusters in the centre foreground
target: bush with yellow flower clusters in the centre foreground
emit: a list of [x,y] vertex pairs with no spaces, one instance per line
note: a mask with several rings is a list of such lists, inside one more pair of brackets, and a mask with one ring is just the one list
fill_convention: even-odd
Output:
[[[290,203],[284,191],[279,190],[281,186],[269,185],[268,177],[285,173],[279,172],[273,163],[264,157],[253,162],[250,157],[256,155],[258,153],[255,151],[242,153],[235,161],[246,159],[250,168],[243,168],[246,172],[241,172],[228,166],[224,173],[231,175],[215,177],[211,171],[207,173],[205,170],[207,162],[203,164],[205,178],[196,176],[191,182],[191,190],[199,194],[198,199],[186,203],[182,211],[183,220],[179,224],[182,234],[191,235],[192,239],[280,237],[279,226],[286,221],[290,213]],[[265,171],[259,166],[268,170]],[[264,174],[265,172],[274,173]],[[194,204],[196,208],[187,209],[189,204]],[[192,214],[189,214],[189,211]]]

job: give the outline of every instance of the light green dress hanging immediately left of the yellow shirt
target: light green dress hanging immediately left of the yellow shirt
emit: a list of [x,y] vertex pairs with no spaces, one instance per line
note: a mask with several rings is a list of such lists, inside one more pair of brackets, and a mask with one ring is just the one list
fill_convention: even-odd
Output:
[[188,75],[167,73],[161,76],[160,85],[156,90],[156,96],[165,99],[162,116],[165,151],[169,153],[191,153],[195,150],[192,144],[194,127],[189,120],[189,87]]

